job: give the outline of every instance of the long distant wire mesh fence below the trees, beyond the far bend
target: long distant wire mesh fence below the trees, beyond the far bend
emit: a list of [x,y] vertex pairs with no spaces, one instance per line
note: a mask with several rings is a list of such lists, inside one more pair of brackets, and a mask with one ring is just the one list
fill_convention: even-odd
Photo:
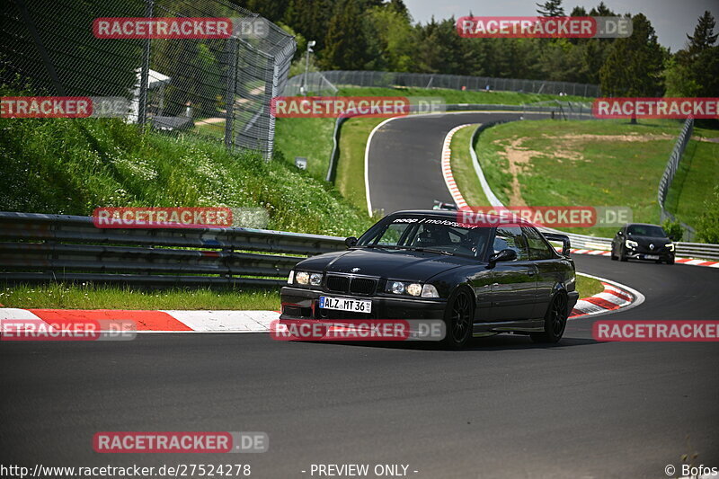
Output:
[[447,88],[470,91],[505,91],[522,93],[568,94],[598,97],[599,85],[550,82],[544,80],[519,80],[514,78],[492,78],[488,76],[439,75],[425,73],[397,73],[376,71],[326,71],[300,74],[289,79],[286,93],[300,94],[306,85],[306,92],[330,94],[332,88],[342,86],[377,86],[414,88]]

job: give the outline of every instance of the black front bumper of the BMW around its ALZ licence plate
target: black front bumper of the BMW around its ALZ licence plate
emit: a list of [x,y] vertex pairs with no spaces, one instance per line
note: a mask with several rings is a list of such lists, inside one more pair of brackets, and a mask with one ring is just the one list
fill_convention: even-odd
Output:
[[[347,297],[372,301],[370,314],[351,313],[323,309],[319,306],[320,296]],[[280,290],[282,319],[443,319],[446,300],[414,299],[405,297],[362,297],[346,294],[325,293],[306,288],[284,287]]]

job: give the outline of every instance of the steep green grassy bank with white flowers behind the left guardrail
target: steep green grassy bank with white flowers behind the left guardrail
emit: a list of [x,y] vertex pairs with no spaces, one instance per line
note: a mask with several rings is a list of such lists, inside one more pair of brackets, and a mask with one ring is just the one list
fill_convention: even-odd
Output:
[[216,141],[141,132],[111,119],[2,119],[0,210],[263,207],[272,229],[358,235],[370,221],[332,185]]

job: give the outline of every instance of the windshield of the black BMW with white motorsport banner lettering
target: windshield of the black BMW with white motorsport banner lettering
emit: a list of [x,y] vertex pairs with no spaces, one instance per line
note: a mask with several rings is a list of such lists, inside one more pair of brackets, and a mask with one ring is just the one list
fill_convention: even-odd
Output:
[[359,247],[382,247],[479,257],[490,228],[442,217],[394,217],[359,238]]

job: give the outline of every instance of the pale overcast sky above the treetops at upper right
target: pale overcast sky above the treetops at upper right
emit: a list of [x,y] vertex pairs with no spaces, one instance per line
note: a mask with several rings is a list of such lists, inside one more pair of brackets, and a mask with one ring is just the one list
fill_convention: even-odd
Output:
[[[410,9],[414,22],[426,23],[432,15],[436,19],[466,16],[471,11],[475,16],[532,16],[537,14],[537,3],[544,0],[404,0]],[[599,0],[564,0],[564,12],[569,14],[576,5],[588,11],[599,4]],[[671,51],[682,49],[697,25],[697,19],[705,10],[719,19],[717,0],[604,0],[613,12],[644,13],[652,22],[659,42]],[[716,32],[716,30],[715,30]]]

